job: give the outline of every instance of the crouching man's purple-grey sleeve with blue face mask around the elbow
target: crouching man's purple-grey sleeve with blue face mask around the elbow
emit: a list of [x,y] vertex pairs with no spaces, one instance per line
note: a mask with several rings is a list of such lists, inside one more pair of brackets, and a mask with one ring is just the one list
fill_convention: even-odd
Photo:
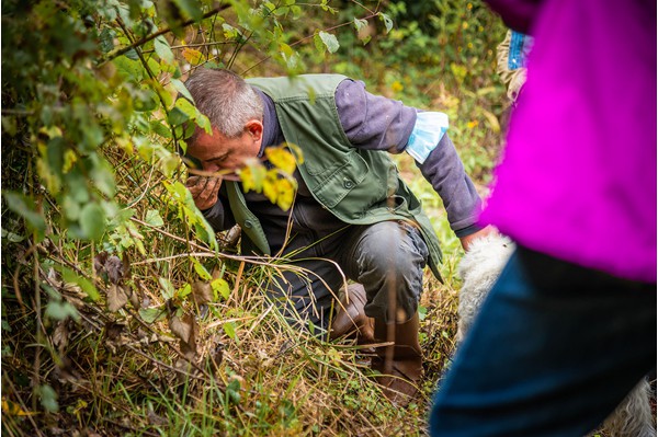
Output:
[[[390,153],[406,151],[417,120],[416,108],[373,95],[365,91],[363,82],[351,80],[338,87],[336,105],[343,130],[354,147]],[[461,238],[479,230],[475,223],[481,200],[447,135],[417,165],[443,200],[455,234]]]

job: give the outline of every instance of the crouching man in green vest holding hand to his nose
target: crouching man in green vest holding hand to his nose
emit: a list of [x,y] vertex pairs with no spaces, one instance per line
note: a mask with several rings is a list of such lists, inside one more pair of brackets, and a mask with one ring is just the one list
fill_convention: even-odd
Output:
[[[200,69],[185,84],[213,127],[212,135],[197,129],[188,140],[188,154],[202,170],[235,171],[286,142],[304,154],[287,211],[222,177],[190,177],[196,206],[217,231],[240,225],[242,252],[287,256],[311,273],[286,272],[269,286],[292,320],[327,332],[334,315],[334,337],[372,318],[372,341],[388,344],[376,349],[372,367],[386,395],[407,403],[422,373],[417,309],[423,268],[438,276],[441,251],[388,153],[416,159],[464,248],[489,232],[475,225],[480,199],[445,135],[445,115],[375,96],[363,82],[338,74],[245,81],[228,70]],[[351,287],[349,303],[330,314],[344,284],[341,271],[363,287]]]

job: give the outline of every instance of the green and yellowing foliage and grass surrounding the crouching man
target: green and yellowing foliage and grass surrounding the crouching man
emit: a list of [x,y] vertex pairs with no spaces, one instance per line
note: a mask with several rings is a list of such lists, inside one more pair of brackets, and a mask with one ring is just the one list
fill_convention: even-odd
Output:
[[178,151],[183,125],[207,119],[175,97],[202,67],[343,73],[447,113],[486,193],[507,102],[504,27],[481,1],[2,0],[1,13],[3,433],[424,433],[461,249],[412,161],[396,157],[443,242],[445,283],[428,276],[423,292],[426,398],[399,411],[358,347],[271,311],[259,285],[285,260],[239,256],[203,220]]

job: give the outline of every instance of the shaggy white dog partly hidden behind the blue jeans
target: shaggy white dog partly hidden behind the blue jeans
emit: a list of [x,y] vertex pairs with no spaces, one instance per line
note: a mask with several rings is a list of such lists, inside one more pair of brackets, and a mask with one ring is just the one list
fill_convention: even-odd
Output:
[[[465,338],[479,308],[514,251],[514,243],[503,235],[488,235],[473,241],[460,262],[457,274],[463,280],[457,308],[457,346]],[[646,378],[608,417],[604,435],[610,437],[656,436]]]

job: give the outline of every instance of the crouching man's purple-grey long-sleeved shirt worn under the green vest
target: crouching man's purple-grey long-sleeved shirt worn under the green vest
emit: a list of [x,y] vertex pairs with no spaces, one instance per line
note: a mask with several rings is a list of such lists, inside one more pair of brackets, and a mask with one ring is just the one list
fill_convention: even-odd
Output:
[[[273,101],[257,90],[264,103],[263,141],[260,154],[270,146],[284,141],[279,126]],[[405,106],[401,102],[377,96],[365,91],[361,81],[344,80],[336,91],[336,106],[347,138],[355,148],[401,153],[413,130],[417,110]],[[451,228],[457,237],[465,237],[477,231],[476,211],[480,207],[480,198],[460,160],[454,145],[444,135],[436,148],[418,164],[423,176],[432,184],[441,196],[447,212]],[[292,232],[295,235],[286,245],[287,251],[315,244],[315,255],[321,254],[320,240],[343,228],[340,221],[327,209],[324,209],[313,197],[298,172],[295,174],[298,192],[292,216]],[[272,205],[262,194],[246,193],[248,207],[259,220],[270,248],[279,251],[285,241],[288,211]],[[235,223],[230,214],[226,214],[223,202],[204,211],[213,228],[227,229]]]

